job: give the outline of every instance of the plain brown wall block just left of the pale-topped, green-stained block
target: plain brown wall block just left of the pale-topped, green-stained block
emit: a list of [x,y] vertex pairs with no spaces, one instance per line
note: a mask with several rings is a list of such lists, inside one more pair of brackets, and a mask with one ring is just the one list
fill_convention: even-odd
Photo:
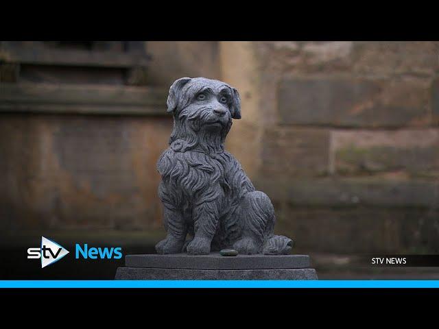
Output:
[[263,137],[262,174],[270,178],[317,176],[329,169],[329,131],[277,127]]

